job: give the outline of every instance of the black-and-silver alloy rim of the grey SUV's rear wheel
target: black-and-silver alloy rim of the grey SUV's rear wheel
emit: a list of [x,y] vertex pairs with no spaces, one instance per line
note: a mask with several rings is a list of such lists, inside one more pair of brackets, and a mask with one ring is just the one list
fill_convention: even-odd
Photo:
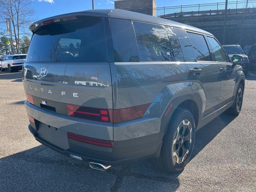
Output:
[[184,119],[178,125],[172,143],[174,161],[178,164],[184,162],[188,156],[192,142],[192,125],[189,120]]

